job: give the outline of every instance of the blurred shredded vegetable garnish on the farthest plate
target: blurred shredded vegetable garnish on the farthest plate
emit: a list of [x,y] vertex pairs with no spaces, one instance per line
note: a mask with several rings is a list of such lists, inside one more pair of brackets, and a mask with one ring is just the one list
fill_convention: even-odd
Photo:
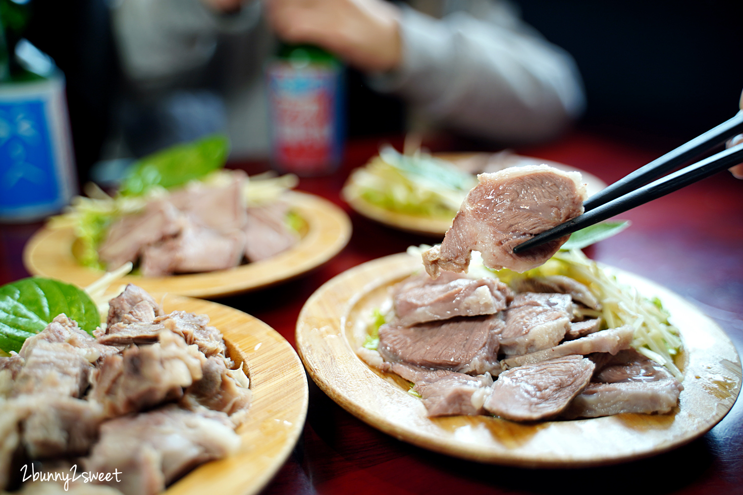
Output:
[[420,152],[411,156],[383,148],[365,167],[351,174],[343,197],[356,198],[392,212],[452,218],[475,176],[452,163]]

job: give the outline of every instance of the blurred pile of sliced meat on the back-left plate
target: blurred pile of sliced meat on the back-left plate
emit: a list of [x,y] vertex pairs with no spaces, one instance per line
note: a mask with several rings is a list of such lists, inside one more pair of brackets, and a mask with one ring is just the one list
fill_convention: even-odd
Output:
[[142,212],[119,217],[98,254],[108,269],[140,260],[142,275],[210,272],[270,258],[293,246],[299,235],[279,200],[246,208],[243,171],[227,183],[191,183],[150,200]]

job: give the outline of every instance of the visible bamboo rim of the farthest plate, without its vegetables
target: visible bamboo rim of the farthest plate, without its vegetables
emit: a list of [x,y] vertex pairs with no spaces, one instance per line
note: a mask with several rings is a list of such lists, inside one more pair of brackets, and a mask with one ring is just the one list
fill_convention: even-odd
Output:
[[[476,162],[487,162],[488,157],[502,156],[502,160],[499,160],[499,166],[502,168],[513,167],[518,165],[539,165],[546,163],[554,168],[559,168],[563,171],[579,171],[583,175],[583,181],[588,189],[588,196],[596,194],[601,189],[606,187],[606,183],[600,180],[593,174],[580,170],[580,168],[571,167],[570,165],[563,165],[562,163],[551,162],[550,160],[542,160],[540,158],[524,157],[517,154],[489,154],[489,153],[438,153],[433,156],[447,160],[453,163],[460,164],[461,168],[467,170],[468,163]],[[351,180],[345,183],[344,189],[351,184]],[[373,203],[369,203],[364,200],[363,197],[359,197],[354,194],[352,197],[344,197],[348,206],[351,206],[355,212],[363,215],[371,220],[375,220],[379,223],[383,223],[386,226],[393,227],[395,229],[403,230],[406,232],[412,232],[414,234],[429,235],[431,237],[443,237],[447,233],[449,227],[452,226],[452,220],[442,219],[436,217],[424,217],[421,215],[405,214],[400,212],[392,212],[388,209],[383,209]]]

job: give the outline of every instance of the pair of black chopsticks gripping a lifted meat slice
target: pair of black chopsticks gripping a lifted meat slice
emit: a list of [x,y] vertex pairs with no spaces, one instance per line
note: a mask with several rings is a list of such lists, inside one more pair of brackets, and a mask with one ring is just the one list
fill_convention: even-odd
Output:
[[[736,119],[736,117],[739,118],[739,123],[727,125],[732,122],[733,119]],[[689,165],[686,168],[681,168],[681,170],[655,180],[655,182],[649,183],[646,186],[632,190],[632,187],[637,186],[637,183],[646,183],[646,180],[649,177],[658,177],[658,175],[662,174],[663,171],[668,171],[679,163],[683,163],[685,160],[688,160],[689,157],[693,156],[693,154],[698,154],[699,152],[704,151],[701,149],[701,144],[699,144],[699,142],[703,142],[705,147],[709,149],[714,145],[718,145],[722,140],[735,134],[739,134],[743,128],[743,111],[739,112],[736,117],[733,117],[733,119],[718,125],[711,131],[707,131],[701,136],[696,137],[694,140],[679,146],[675,150],[663,155],[663,157],[658,158],[658,160],[655,160],[642,168],[638,168],[624,179],[612,184],[609,188],[604,189],[604,191],[611,189],[609,194],[594,194],[594,196],[588,198],[588,200],[583,203],[584,208],[587,210],[586,213],[575,217],[572,220],[568,220],[565,223],[560,223],[553,229],[532,237],[530,240],[514,247],[513,252],[519,253],[526,249],[539,246],[540,244],[548,243],[551,240],[559,239],[559,237],[584,229],[587,226],[599,223],[609,217],[613,217],[615,214],[626,212],[629,209],[635,208],[635,206],[640,206],[643,203],[647,203],[648,201],[655,200],[658,197],[669,194],[685,186],[689,186],[698,180],[716,174],[718,171],[743,163],[743,144],[739,144],[733,148],[726,149],[718,154]],[[723,128],[723,126],[726,127]],[[716,131],[714,137],[710,134],[713,133],[713,131]],[[710,135],[708,136],[708,134]],[[682,148],[686,148],[686,151]],[[669,160],[675,163],[673,166],[669,166],[666,160],[662,160],[664,157],[669,157],[669,155],[671,156]],[[686,156],[686,158],[681,159],[681,156]],[[653,168],[648,168],[654,163],[657,164],[654,165]],[[623,184],[614,188],[618,183]],[[628,183],[632,185],[627,186]],[[616,194],[616,191],[621,192]],[[593,201],[594,198],[598,196],[601,197],[598,200]],[[591,206],[590,211],[588,211],[588,207],[586,207],[587,204],[590,204]]]

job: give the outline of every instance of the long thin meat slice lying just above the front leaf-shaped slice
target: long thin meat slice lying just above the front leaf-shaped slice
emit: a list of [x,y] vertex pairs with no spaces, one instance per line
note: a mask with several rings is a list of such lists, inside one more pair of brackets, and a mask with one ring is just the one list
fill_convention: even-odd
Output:
[[591,353],[616,354],[620,350],[629,349],[635,330],[630,325],[610,328],[600,332],[591,333],[574,341],[567,341],[559,346],[537,351],[536,353],[519,355],[502,361],[504,369],[523,366],[524,364],[545,361],[545,359],[557,358],[562,355]]

